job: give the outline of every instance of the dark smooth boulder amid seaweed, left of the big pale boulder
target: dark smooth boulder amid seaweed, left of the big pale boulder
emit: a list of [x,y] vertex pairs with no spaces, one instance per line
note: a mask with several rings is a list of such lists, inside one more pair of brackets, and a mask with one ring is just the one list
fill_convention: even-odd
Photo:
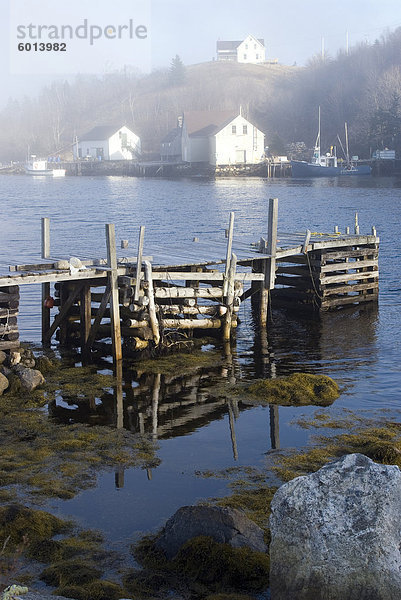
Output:
[[167,521],[156,547],[173,558],[188,540],[200,535],[234,548],[247,546],[266,552],[263,530],[235,508],[219,506],[183,506]]

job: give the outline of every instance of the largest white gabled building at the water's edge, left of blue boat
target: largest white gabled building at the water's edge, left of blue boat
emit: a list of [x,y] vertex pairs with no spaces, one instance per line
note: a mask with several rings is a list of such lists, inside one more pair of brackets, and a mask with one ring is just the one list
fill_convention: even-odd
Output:
[[213,166],[258,164],[264,134],[241,111],[191,111],[161,145],[162,159]]

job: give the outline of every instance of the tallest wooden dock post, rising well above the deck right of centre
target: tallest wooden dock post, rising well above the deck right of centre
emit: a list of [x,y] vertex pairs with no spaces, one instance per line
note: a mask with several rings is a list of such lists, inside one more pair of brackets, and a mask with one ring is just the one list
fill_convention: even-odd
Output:
[[263,265],[265,280],[262,282],[260,290],[260,324],[266,326],[269,306],[269,293],[274,288],[276,278],[276,251],[277,251],[277,220],[278,220],[278,199],[269,199],[269,221],[266,253],[269,255]]

